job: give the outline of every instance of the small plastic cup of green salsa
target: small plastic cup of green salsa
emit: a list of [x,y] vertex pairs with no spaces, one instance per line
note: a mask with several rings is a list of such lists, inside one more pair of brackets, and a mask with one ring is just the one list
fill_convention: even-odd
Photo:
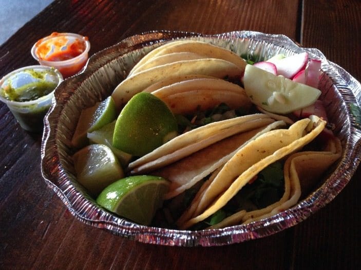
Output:
[[52,67],[23,67],[0,80],[0,100],[6,103],[23,129],[41,132],[54,90],[62,80],[62,74]]

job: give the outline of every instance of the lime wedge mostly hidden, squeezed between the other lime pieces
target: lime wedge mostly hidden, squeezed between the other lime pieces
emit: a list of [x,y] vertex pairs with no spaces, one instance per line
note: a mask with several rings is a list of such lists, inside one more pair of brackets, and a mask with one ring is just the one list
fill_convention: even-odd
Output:
[[87,137],[90,143],[105,144],[107,147],[109,147],[116,155],[123,168],[126,168],[129,160],[131,159],[131,155],[113,147],[113,133],[115,126],[116,121],[112,121],[99,130],[89,132]]

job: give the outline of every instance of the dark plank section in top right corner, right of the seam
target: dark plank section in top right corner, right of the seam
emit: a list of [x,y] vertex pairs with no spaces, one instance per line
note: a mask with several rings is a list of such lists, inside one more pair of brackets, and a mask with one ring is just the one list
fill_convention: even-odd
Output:
[[303,4],[301,44],[361,79],[361,3],[357,0],[313,1]]

